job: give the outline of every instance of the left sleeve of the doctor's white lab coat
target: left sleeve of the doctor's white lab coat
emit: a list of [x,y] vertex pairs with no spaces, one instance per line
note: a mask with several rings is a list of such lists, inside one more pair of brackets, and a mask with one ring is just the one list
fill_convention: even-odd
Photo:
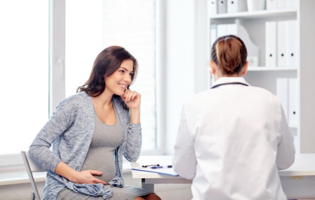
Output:
[[194,137],[189,131],[185,108],[183,107],[174,147],[173,168],[181,177],[193,179],[196,174],[196,165]]

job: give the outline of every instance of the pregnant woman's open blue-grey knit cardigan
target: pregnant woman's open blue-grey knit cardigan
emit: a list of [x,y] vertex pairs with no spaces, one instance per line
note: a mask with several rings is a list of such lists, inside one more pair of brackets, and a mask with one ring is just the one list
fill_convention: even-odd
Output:
[[[123,156],[136,161],[141,150],[141,125],[130,123],[130,113],[123,107],[121,97],[112,101],[123,127],[123,143],[115,150],[116,176],[108,184],[123,187]],[[80,171],[94,133],[94,107],[90,95],[78,92],[60,102],[55,112],[30,146],[30,155],[48,169],[44,200],[55,200],[58,192],[67,187],[75,192],[108,199],[113,196],[103,184],[76,184],[55,173],[60,161]],[[52,146],[52,152],[50,146]]]

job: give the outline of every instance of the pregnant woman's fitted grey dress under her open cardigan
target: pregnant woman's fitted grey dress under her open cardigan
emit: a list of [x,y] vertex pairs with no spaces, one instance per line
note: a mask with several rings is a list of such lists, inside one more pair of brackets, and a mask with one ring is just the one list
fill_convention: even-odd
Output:
[[[102,175],[95,175],[95,177],[105,182],[109,182],[116,175],[114,151],[123,142],[122,126],[115,106],[114,110],[116,122],[113,125],[103,123],[94,111],[94,134],[87,157],[81,169],[82,171],[93,169],[103,172]],[[134,200],[136,197],[152,193],[145,189],[126,185],[123,188],[112,188],[110,185],[106,185],[105,188],[111,189],[114,193],[110,200]],[[101,196],[93,197],[76,193],[68,188],[63,188],[58,193],[57,200],[103,200],[103,198]]]

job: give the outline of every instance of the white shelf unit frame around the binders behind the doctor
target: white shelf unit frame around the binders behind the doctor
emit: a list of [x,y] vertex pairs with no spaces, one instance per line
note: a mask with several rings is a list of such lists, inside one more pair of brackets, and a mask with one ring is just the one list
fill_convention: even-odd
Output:
[[[208,55],[211,52],[212,24],[238,23],[259,46],[259,66],[249,67],[245,79],[276,94],[277,78],[297,78],[298,122],[289,124],[295,136],[297,153],[315,153],[315,0],[297,0],[297,8],[223,13],[208,23]],[[265,22],[297,20],[298,61],[294,67],[265,67]]]

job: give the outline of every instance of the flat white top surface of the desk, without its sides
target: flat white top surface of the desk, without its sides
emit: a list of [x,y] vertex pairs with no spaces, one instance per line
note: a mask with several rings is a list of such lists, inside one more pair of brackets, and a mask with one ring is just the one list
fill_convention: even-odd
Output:
[[[140,156],[136,162],[132,162],[133,168],[141,167],[141,165],[172,164],[173,156]],[[132,170],[133,178],[172,178],[182,179],[181,177],[174,177],[162,175],[151,172]],[[279,176],[315,176],[315,154],[296,154],[293,165],[287,169],[280,170]]]

